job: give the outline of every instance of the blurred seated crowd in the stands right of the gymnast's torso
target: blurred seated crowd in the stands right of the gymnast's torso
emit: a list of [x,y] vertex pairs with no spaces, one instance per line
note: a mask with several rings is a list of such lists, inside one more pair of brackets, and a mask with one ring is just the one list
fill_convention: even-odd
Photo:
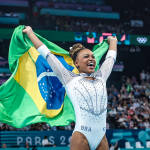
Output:
[[140,73],[140,82],[122,76],[121,89],[108,88],[107,129],[150,128],[150,74]]

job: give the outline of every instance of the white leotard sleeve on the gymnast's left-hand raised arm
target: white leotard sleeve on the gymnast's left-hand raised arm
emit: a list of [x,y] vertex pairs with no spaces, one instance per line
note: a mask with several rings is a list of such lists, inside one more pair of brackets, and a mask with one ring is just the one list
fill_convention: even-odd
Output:
[[75,77],[76,74],[67,70],[56,56],[50,52],[46,45],[40,46],[37,51],[46,59],[53,72],[64,86]]

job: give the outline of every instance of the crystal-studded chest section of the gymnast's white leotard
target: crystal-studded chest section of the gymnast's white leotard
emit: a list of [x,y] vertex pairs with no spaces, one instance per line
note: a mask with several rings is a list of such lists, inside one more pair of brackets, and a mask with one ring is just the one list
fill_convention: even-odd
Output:
[[[96,116],[102,114],[107,109],[105,108],[107,98],[104,94],[104,92],[106,92],[106,89],[102,80],[95,79],[93,81],[86,78],[81,78],[79,80],[79,84],[80,86],[74,87],[74,91],[76,93],[80,109]],[[101,92],[102,96],[98,94],[99,92]],[[80,99],[78,99],[78,97],[80,97]]]

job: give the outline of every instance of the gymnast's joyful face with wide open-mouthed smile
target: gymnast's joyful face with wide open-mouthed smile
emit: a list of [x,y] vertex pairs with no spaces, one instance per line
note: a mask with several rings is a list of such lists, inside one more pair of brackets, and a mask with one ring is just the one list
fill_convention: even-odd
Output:
[[77,54],[74,62],[80,73],[91,74],[95,71],[95,56],[89,49],[84,49]]

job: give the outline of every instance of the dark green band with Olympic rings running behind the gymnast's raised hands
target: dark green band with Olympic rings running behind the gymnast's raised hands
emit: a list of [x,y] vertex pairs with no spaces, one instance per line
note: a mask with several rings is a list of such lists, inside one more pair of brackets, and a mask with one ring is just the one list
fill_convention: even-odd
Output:
[[[0,28],[0,39],[11,39],[14,29]],[[51,30],[34,30],[37,34],[49,41],[63,41],[63,42],[83,42],[88,43],[88,39],[93,39],[93,43],[99,43],[100,37],[106,39],[102,33],[96,32],[66,32],[66,31],[51,31]],[[150,36],[144,35],[125,35],[126,40],[121,41],[124,35],[112,33],[112,36],[117,36],[119,45],[143,45],[150,46]],[[146,37],[147,42],[141,44],[137,42],[137,37]]]

